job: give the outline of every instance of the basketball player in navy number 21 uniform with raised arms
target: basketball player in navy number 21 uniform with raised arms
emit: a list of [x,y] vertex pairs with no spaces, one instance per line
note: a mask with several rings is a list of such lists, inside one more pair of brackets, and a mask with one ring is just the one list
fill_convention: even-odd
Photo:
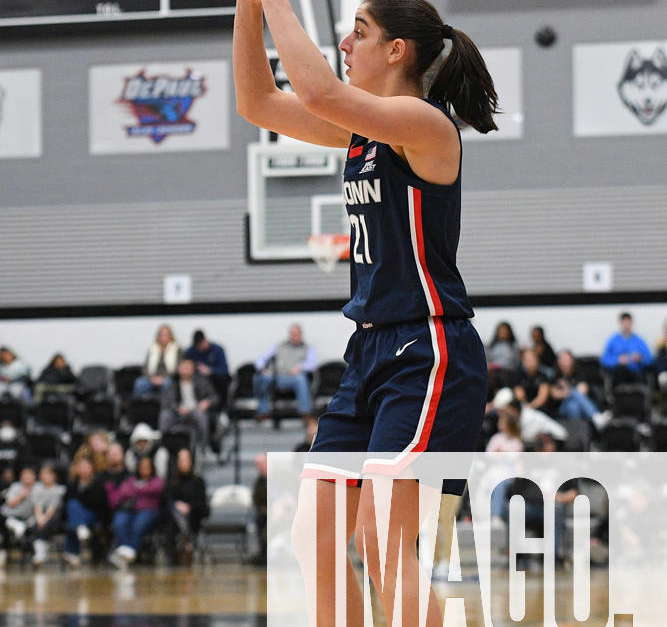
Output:
[[[262,14],[294,93],[275,86]],[[340,49],[349,84],[331,71],[289,0],[237,2],[238,112],[268,130],[348,151],[344,196],[352,285],[343,312],[357,330],[345,352],[340,388],[319,419],[310,450],[396,452],[390,460],[371,455],[362,469],[365,476],[392,476],[421,451],[477,448],[486,360],[456,267],[462,144],[451,110],[488,133],[497,130],[497,96],[476,46],[445,25],[426,0],[364,1]],[[322,476],[321,467],[312,470]],[[348,537],[357,530],[364,558],[361,531],[368,545],[375,529],[373,482],[339,476],[348,477]],[[334,625],[334,484],[316,483],[318,573],[311,592],[317,627],[328,627]],[[394,484],[385,572],[395,572],[402,534],[403,624],[416,625],[418,599],[405,591],[414,590],[418,578],[418,483]],[[463,487],[444,482],[443,492],[458,498]],[[456,503],[449,515],[455,510]],[[295,537],[299,524],[297,515]],[[392,584],[370,561],[368,567],[390,621]],[[356,627],[363,624],[361,592],[349,560],[347,569],[347,624]],[[431,593],[426,624],[442,622]]]

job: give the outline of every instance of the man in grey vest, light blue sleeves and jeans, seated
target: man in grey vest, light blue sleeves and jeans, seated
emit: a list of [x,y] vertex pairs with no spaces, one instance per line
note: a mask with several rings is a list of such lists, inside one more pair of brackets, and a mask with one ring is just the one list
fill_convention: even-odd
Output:
[[303,340],[303,331],[298,324],[289,328],[288,339],[273,346],[256,362],[255,395],[259,401],[257,420],[269,416],[271,388],[294,392],[298,411],[304,421],[312,418],[312,398],[308,374],[317,367],[315,349]]

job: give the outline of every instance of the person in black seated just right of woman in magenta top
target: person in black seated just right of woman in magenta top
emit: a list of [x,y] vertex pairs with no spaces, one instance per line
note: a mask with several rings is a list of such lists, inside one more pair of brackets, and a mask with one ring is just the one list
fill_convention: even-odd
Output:
[[209,515],[206,484],[193,472],[192,452],[183,448],[176,457],[176,472],[167,486],[169,524],[167,554],[175,564],[192,559],[193,543],[204,518]]

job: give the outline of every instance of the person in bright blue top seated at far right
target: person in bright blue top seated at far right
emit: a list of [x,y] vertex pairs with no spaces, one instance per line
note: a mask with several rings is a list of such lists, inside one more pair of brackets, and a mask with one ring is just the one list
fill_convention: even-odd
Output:
[[628,312],[619,316],[620,330],[605,346],[600,363],[612,377],[612,385],[641,383],[653,357],[646,342],[633,333],[633,320]]

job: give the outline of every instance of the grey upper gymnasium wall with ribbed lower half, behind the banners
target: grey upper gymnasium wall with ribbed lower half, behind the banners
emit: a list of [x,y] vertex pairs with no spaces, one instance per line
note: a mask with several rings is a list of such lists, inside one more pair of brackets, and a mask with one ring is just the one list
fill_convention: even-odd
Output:
[[[480,46],[523,51],[524,138],[465,145],[470,292],[571,295],[587,261],[612,262],[617,291],[664,291],[665,137],[575,139],[571,101],[572,46],[664,39],[667,0],[489,4],[439,3]],[[544,24],[559,34],[550,49],[533,40]],[[90,66],[230,56],[231,30],[0,38],[0,69],[42,69],[44,127],[40,159],[0,160],[0,308],[160,303],[174,273],[192,276],[195,302],[345,297],[345,266],[325,277],[246,262],[245,147],[258,132],[233,114],[231,86],[229,150],[89,154]],[[276,207],[305,190],[278,185]]]

